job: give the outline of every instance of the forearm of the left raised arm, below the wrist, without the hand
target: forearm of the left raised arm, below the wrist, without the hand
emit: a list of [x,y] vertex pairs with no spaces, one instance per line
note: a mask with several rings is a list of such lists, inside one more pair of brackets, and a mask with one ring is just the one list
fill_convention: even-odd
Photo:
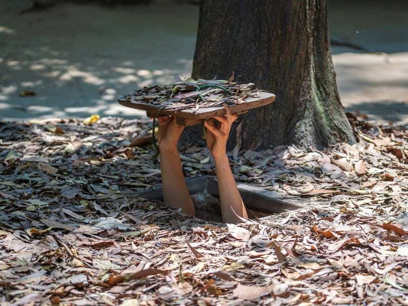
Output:
[[164,202],[171,208],[182,208],[182,212],[194,216],[194,205],[188,192],[177,148],[160,148]]

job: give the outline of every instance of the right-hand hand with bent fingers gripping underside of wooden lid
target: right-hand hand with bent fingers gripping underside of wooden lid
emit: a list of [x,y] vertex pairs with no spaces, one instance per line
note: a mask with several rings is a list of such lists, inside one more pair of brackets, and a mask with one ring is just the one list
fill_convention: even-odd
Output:
[[[215,125],[216,119],[220,124]],[[237,114],[216,116],[207,120],[204,125],[207,127],[206,142],[214,160],[226,156],[226,142],[231,131],[231,125],[237,120]]]

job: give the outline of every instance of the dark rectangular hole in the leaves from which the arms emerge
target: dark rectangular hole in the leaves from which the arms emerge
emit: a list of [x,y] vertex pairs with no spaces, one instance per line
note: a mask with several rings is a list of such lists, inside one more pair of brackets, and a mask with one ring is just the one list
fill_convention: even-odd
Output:
[[[222,223],[217,181],[211,177],[200,176],[189,179],[186,183],[194,203],[196,217]],[[278,199],[276,192],[263,190],[245,183],[238,183],[237,186],[250,219],[263,218],[301,208],[295,203]],[[162,187],[141,191],[137,195],[148,200],[163,201]]]

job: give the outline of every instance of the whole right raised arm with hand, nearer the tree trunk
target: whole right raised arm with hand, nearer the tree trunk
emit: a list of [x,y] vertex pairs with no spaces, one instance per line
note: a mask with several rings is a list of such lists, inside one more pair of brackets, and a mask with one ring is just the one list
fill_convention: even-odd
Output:
[[228,134],[230,134],[231,125],[237,119],[237,115],[217,116],[214,117],[214,119],[220,122],[220,126],[216,127],[214,120],[206,121],[206,140],[214,158],[221,200],[222,220],[226,223],[237,223],[241,221],[237,215],[240,217],[248,217],[237,184],[235,183],[228,157],[226,156]]

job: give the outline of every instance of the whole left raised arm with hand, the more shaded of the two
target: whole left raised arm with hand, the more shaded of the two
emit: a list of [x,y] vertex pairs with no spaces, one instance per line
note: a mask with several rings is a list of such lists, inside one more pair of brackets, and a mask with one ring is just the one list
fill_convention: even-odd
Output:
[[184,126],[175,123],[174,117],[159,117],[157,135],[160,150],[164,202],[171,208],[195,216],[193,201],[187,189],[177,143]]

